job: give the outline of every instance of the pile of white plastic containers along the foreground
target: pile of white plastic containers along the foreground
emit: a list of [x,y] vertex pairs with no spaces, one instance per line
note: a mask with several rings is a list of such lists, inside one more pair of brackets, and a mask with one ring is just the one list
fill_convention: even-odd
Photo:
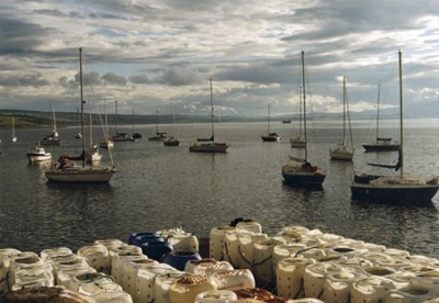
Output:
[[[60,288],[68,302],[439,302],[437,259],[301,226],[269,236],[257,222],[233,225],[212,228],[210,258],[189,260],[184,270],[120,239],[76,252],[0,249],[0,299]],[[175,250],[199,250],[181,228],[157,234]]]

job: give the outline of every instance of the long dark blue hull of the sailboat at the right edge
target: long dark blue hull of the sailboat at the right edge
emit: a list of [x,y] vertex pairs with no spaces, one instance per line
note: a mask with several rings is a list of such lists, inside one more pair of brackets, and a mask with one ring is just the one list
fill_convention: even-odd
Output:
[[[368,180],[369,178],[369,180]],[[351,184],[354,200],[375,200],[390,202],[431,202],[439,190],[439,184],[432,181],[426,183],[374,183],[380,177],[356,177]],[[434,179],[435,180],[435,179]]]

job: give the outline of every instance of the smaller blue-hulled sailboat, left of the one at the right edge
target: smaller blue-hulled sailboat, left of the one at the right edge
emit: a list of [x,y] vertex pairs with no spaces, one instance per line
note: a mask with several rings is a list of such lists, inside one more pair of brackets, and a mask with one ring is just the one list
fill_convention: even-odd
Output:
[[289,156],[289,162],[282,166],[282,177],[292,187],[320,187],[326,173],[317,166],[308,162],[306,141],[306,93],[305,93],[305,53],[302,52],[302,81],[303,81],[303,125],[305,139],[305,158]]

